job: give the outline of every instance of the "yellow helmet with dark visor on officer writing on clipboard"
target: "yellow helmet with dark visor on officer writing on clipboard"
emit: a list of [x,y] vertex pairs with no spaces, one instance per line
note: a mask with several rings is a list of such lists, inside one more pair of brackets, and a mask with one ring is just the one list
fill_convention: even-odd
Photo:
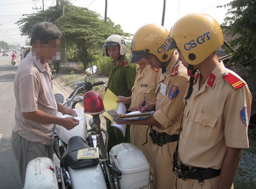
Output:
[[169,31],[157,24],[146,24],[133,36],[130,62],[135,63],[147,54],[153,54],[161,63],[168,62],[174,50],[165,52],[169,44]]

